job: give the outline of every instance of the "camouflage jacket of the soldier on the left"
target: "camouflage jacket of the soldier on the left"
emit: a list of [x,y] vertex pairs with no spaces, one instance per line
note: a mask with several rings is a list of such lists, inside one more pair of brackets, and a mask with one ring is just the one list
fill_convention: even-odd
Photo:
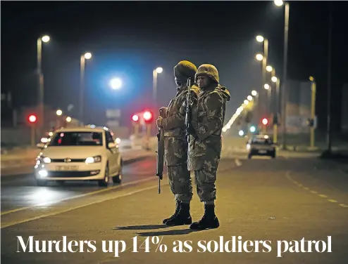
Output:
[[[191,86],[192,102],[197,100],[199,88]],[[162,121],[164,130],[164,160],[166,166],[187,163],[187,139],[185,137],[185,105],[187,88],[178,88],[178,93],[170,100],[166,111],[166,118]]]

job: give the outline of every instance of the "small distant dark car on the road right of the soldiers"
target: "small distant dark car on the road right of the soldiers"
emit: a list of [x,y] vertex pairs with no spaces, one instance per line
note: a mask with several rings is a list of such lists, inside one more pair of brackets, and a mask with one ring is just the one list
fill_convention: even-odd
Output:
[[267,135],[257,135],[248,140],[248,158],[253,156],[270,156],[273,159],[276,154],[276,145]]

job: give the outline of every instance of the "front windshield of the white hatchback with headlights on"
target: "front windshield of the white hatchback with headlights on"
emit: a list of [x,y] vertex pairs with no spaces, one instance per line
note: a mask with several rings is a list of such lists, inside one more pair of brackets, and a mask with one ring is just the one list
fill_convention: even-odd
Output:
[[60,132],[56,133],[49,146],[101,146],[103,136],[100,132]]

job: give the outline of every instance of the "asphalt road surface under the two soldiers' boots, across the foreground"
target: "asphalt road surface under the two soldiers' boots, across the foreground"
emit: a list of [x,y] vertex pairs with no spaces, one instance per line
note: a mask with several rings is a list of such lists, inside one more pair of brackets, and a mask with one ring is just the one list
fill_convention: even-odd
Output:
[[[147,162],[149,165],[144,165]],[[129,175],[134,176],[129,177],[150,180],[1,216],[1,260],[74,264],[187,263],[187,260],[191,263],[348,263],[348,176],[332,164],[310,157],[223,159],[216,201],[220,227],[201,232],[192,232],[188,226],[161,225],[161,220],[173,213],[173,195],[166,178],[161,183],[161,194],[157,193],[154,159],[139,164],[143,165],[130,166]],[[135,176],[137,173],[141,176]],[[75,186],[47,188],[81,192]],[[194,220],[203,213],[197,194],[191,213]],[[42,241],[48,244],[49,240],[58,241],[66,236],[67,245],[70,242],[70,249],[76,252],[58,253],[55,245],[53,253],[23,252],[17,236],[23,239],[23,246],[33,236],[33,240],[39,241],[37,249],[42,249],[39,244]],[[309,251],[308,242],[301,244],[302,239],[316,241],[311,243],[312,252],[296,252]],[[160,240],[166,246],[159,246]],[[178,240],[182,249],[189,251],[192,246],[192,251],[175,252],[179,249]],[[213,240],[215,244],[209,242]],[[146,253],[147,242],[149,252]],[[60,243],[58,250],[63,251]],[[111,249],[118,246],[119,253],[107,251],[109,245]],[[208,248],[217,252],[202,252]],[[324,252],[317,253],[316,248]],[[92,252],[87,252],[88,249]],[[125,250],[120,252],[122,249]],[[69,251],[68,246],[66,250]]]

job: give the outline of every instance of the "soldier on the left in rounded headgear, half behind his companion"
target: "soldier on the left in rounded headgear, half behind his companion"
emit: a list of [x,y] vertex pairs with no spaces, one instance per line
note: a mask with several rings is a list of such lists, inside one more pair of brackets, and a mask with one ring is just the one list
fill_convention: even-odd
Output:
[[199,88],[194,83],[197,67],[187,60],[182,60],[174,67],[175,83],[178,92],[170,100],[166,109],[166,118],[157,119],[156,124],[164,130],[164,159],[170,190],[175,194],[175,213],[163,220],[165,225],[189,225],[192,218],[189,204],[192,200],[192,181],[187,170],[187,136],[185,135],[185,105],[187,79],[192,79],[191,98],[198,98]]

